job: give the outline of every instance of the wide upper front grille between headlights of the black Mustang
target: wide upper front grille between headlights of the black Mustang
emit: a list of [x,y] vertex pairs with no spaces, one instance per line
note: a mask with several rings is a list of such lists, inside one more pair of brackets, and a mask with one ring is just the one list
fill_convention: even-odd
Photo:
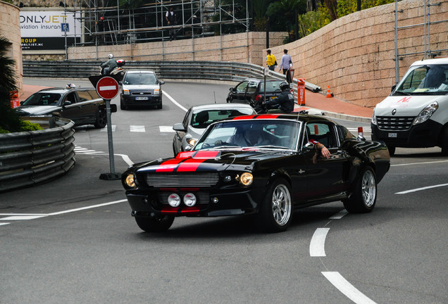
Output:
[[218,173],[149,173],[144,177],[148,186],[155,188],[164,187],[209,187],[218,184]]

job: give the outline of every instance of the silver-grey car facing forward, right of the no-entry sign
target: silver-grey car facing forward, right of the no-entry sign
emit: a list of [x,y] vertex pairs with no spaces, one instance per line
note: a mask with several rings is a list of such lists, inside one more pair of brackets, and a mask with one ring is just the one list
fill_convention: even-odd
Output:
[[120,109],[126,110],[130,106],[156,106],[161,109],[161,85],[164,83],[151,70],[127,70],[120,82]]

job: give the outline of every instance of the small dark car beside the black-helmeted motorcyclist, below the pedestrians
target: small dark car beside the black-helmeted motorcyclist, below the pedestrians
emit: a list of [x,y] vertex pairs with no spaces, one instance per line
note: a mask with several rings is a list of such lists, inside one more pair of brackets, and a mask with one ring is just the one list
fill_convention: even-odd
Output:
[[[266,79],[266,101],[277,98],[280,93],[280,84],[285,80]],[[287,83],[287,82],[285,82]],[[264,78],[248,78],[230,88],[227,96],[228,103],[251,103],[259,106],[264,101]]]

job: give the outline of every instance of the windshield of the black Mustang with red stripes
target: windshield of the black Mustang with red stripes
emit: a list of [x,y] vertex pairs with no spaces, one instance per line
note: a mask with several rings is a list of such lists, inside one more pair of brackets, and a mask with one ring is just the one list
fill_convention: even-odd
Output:
[[199,139],[194,150],[259,149],[296,150],[301,122],[291,120],[232,120],[220,122]]

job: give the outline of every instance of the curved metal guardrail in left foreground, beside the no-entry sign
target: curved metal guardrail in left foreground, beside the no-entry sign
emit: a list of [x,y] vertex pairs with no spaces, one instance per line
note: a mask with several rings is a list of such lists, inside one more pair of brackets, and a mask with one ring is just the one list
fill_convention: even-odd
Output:
[[[49,118],[32,120],[53,125]],[[0,191],[47,182],[75,165],[74,123],[58,118],[54,124],[51,129],[0,134]]]

